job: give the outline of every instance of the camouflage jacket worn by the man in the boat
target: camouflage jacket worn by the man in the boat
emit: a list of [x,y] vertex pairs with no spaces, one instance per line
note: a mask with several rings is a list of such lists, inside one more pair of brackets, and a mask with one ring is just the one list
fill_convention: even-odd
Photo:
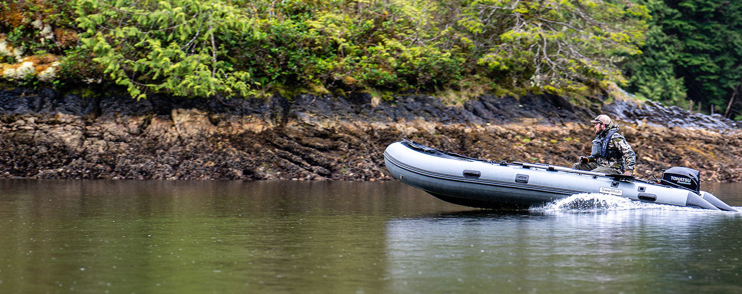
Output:
[[608,136],[608,133],[611,133],[611,130],[615,130],[615,132],[613,133],[613,136],[611,136],[610,141],[608,141],[607,150],[617,154],[617,157],[601,157],[600,150],[597,150],[598,153],[596,154],[596,150],[593,148],[593,154],[588,156],[588,160],[590,162],[597,162],[597,164],[603,167],[612,167],[622,172],[626,170],[631,170],[631,172],[633,172],[634,167],[636,166],[637,156],[634,154],[634,150],[631,149],[631,145],[626,141],[626,138],[623,138],[623,136],[618,133],[618,126],[616,124],[611,123],[608,125],[603,132],[600,132],[600,134],[595,137],[593,144],[602,142],[605,139],[605,136]]

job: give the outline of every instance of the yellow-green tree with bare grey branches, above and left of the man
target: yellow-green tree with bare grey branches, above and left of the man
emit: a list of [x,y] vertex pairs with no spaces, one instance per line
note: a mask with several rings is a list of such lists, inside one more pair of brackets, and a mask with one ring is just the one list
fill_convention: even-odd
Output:
[[[623,83],[615,66],[640,53],[645,7],[610,1],[468,1],[459,24],[487,50],[477,63],[513,87],[569,93]],[[497,38],[482,38],[497,36]]]

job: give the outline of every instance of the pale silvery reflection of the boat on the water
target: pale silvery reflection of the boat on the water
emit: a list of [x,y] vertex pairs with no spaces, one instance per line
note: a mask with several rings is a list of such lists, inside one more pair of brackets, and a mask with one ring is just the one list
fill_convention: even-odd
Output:
[[443,213],[390,221],[387,251],[395,291],[738,292],[740,224],[661,208]]

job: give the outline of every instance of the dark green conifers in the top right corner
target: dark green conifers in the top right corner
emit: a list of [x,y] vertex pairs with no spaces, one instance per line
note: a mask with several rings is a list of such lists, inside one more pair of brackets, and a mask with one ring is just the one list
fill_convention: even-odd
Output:
[[[631,89],[670,104],[687,105],[687,98],[703,109],[714,104],[725,110],[742,90],[742,2],[641,2],[654,21],[642,48],[646,54],[626,64]],[[741,98],[735,98],[733,111],[741,108]]]

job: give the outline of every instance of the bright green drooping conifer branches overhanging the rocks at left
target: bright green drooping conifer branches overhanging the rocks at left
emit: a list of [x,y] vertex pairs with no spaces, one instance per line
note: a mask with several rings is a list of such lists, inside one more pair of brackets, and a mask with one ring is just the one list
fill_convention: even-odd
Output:
[[246,96],[249,73],[226,61],[223,39],[252,21],[224,1],[79,0],[82,44],[132,97]]

